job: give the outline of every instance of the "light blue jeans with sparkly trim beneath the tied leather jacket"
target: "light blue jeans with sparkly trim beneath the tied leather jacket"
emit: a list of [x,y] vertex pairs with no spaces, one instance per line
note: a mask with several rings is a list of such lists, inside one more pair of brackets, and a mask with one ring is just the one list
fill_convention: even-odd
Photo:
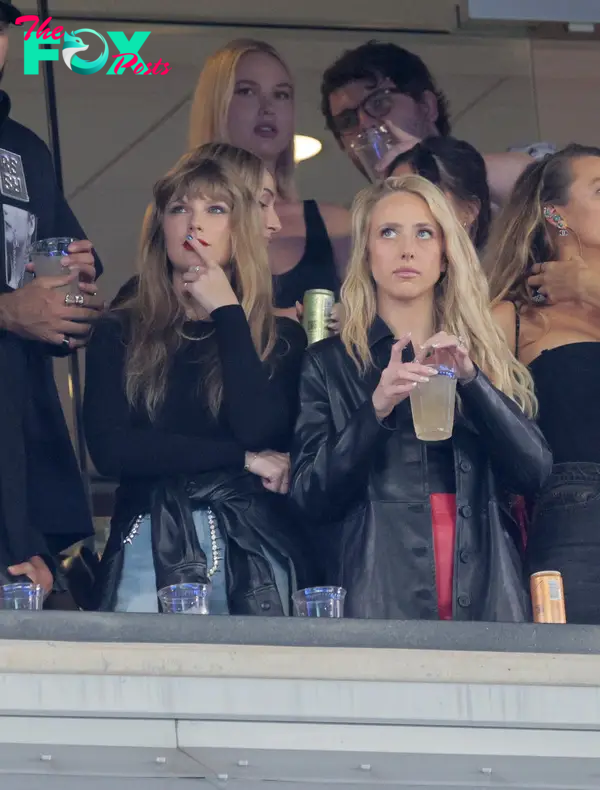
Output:
[[[210,528],[206,510],[195,510],[193,513],[196,535],[202,551],[206,554],[209,568],[213,565],[210,542]],[[210,613],[229,614],[227,603],[227,584],[225,579],[225,541],[217,527],[217,546],[219,551],[219,567],[211,576]],[[275,583],[283,604],[283,610],[289,615],[290,576],[286,568],[263,546],[265,556],[271,564],[275,575]],[[131,543],[125,544],[123,570],[117,588],[115,612],[158,612],[156,594],[156,573],[152,557],[152,532],[150,516],[142,519],[138,533]]]

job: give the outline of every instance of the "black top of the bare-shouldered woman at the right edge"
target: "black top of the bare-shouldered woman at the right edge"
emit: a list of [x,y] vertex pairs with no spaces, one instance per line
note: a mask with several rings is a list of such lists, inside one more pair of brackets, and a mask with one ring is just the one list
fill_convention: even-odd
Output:
[[[516,313],[519,352],[519,313]],[[554,463],[600,463],[600,343],[567,343],[542,351],[529,365],[539,403],[538,424]]]

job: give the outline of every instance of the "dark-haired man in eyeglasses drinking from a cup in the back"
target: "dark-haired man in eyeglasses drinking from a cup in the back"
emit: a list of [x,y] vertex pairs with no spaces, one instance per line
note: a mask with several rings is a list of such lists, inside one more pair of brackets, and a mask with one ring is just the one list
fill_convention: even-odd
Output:
[[[398,140],[394,156],[451,131],[447,99],[431,72],[418,55],[396,44],[369,41],[346,51],[323,75],[321,109],[341,148],[363,173],[350,144],[365,129],[385,123]],[[501,204],[531,156],[511,152],[484,159],[492,199]]]

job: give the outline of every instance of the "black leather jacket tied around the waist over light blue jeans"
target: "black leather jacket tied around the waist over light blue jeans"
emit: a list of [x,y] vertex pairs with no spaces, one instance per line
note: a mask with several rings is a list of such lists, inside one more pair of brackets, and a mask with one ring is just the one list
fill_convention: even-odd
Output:
[[[268,546],[287,567],[290,595],[307,584],[304,554],[294,534],[287,500],[266,491],[259,478],[247,472],[206,472],[191,480],[164,480],[153,487],[150,520],[157,590],[170,584],[208,581],[206,555],[192,516],[200,507],[212,509],[226,544],[230,613],[283,615],[283,602],[262,546]],[[112,611],[115,607],[124,540],[137,515],[134,501],[118,502],[95,582],[94,609]]]

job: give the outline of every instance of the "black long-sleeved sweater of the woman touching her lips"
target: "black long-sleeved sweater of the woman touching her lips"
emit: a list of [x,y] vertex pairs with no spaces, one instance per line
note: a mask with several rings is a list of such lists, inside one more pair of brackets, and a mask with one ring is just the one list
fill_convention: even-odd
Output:
[[[246,451],[288,450],[304,330],[294,321],[277,319],[277,344],[263,364],[239,305],[215,310],[212,319],[185,325],[187,335],[200,339],[184,341],[171,360],[165,401],[154,422],[143,409],[131,409],[125,396],[124,324],[108,317],[93,332],[84,399],[90,455],[101,474],[136,489],[140,512],[147,507],[152,482],[161,477],[239,471]],[[217,419],[202,389],[206,347],[215,342],[223,377]]]

